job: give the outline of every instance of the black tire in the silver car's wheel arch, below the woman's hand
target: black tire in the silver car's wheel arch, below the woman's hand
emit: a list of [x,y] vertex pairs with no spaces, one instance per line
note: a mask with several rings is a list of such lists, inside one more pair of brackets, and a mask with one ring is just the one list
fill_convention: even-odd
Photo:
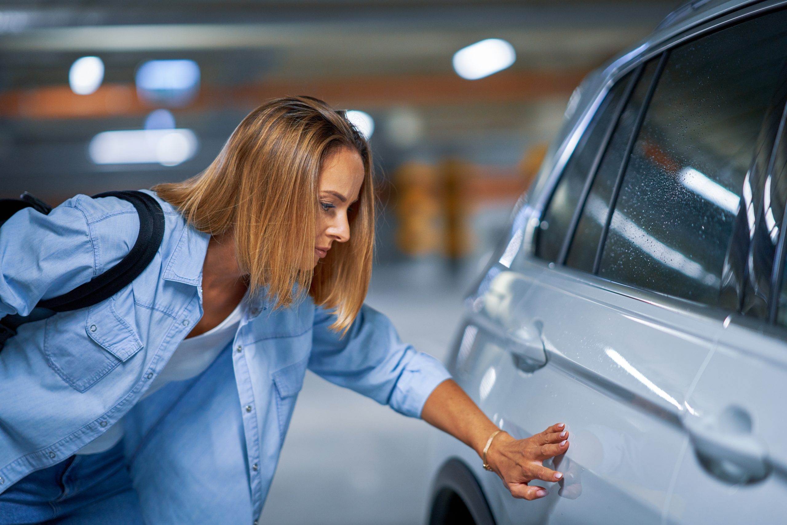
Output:
[[429,525],[495,525],[478,480],[460,460],[446,461],[434,479]]

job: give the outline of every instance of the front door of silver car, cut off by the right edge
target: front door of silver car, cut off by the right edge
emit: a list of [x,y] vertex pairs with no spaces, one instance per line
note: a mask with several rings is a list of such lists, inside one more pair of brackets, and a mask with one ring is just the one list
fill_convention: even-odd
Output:
[[726,319],[687,394],[689,440],[668,497],[668,523],[781,523],[787,516],[785,102],[781,83],[725,264],[728,295],[743,315]]

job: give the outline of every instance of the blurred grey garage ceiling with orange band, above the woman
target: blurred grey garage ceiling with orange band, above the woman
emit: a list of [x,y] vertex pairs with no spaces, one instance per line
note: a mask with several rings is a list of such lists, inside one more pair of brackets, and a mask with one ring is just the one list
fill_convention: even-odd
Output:
[[[19,189],[65,195],[144,187],[193,175],[242,116],[266,98],[316,94],[378,120],[384,167],[409,158],[459,155],[515,164],[560,125],[586,72],[644,38],[675,0],[94,0],[0,4],[0,179]],[[485,38],[515,47],[512,68],[467,81],[456,50]],[[97,54],[104,86],[68,89],[77,57]],[[151,58],[192,58],[200,97],[176,109],[198,133],[197,157],[176,168],[99,168],[87,141],[139,128],[150,107],[135,98],[134,74]],[[419,141],[390,139],[397,115],[416,115]],[[40,187],[40,188],[39,188]]]

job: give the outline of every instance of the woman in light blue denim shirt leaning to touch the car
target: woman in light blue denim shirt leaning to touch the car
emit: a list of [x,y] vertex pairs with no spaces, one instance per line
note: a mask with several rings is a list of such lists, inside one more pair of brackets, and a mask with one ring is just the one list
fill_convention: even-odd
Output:
[[[150,194],[166,228],[142,275],[0,353],[0,523],[257,523],[306,368],[453,434],[514,497],[560,479],[541,462],[566,451],[562,424],[498,432],[363,305],[372,161],[344,113],[268,102],[205,172]],[[0,314],[112,268],[138,230],[117,198],[17,213],[0,229]]]

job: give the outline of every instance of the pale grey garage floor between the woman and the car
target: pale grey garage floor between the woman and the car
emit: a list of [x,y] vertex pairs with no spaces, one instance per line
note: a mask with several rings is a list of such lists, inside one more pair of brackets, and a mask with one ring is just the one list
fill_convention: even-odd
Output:
[[[436,261],[376,268],[367,298],[403,341],[441,360],[475,268],[456,279],[446,273]],[[438,431],[307,372],[260,523],[424,523],[432,432]]]

